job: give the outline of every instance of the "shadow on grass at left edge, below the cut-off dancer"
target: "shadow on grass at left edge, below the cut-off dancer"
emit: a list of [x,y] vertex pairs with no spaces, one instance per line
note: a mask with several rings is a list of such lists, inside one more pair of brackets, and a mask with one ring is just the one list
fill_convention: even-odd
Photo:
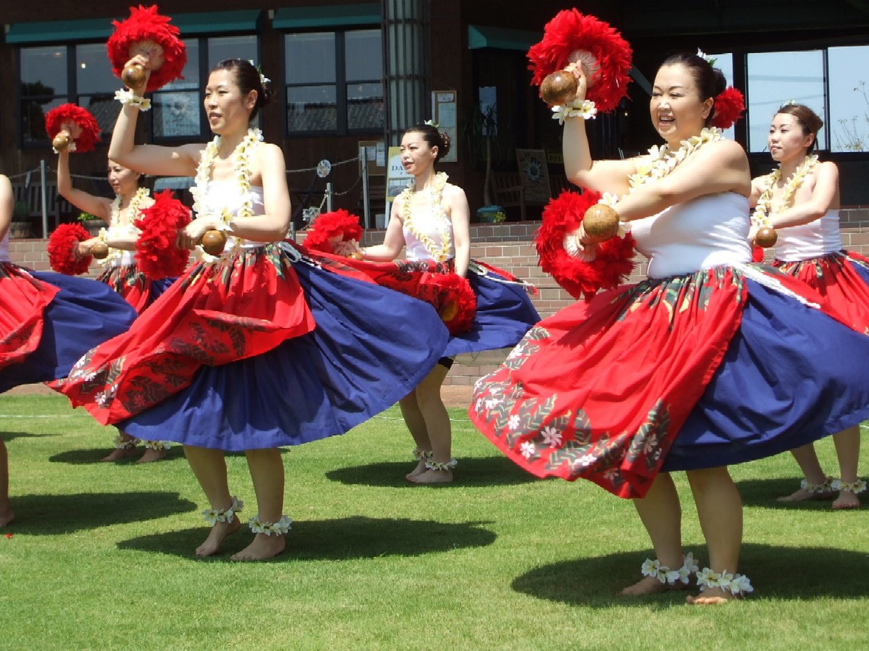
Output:
[[195,510],[196,504],[172,492],[13,495],[17,534],[46,536],[135,523]]

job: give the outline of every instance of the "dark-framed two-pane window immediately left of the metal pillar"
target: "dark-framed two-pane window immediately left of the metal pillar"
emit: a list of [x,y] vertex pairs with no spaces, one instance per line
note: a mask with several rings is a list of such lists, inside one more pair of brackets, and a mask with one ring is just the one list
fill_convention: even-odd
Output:
[[284,35],[288,135],[383,129],[380,30]]

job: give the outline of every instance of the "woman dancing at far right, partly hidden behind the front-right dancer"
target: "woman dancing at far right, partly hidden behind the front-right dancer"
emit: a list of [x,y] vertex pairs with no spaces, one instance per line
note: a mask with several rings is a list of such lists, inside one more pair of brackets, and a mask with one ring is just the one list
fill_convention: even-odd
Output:
[[[782,105],[773,116],[767,141],[779,168],[752,181],[750,239],[760,227],[775,228],[773,265],[812,286],[848,325],[869,334],[869,260],[842,247],[839,168],[811,154],[823,124],[812,109],[796,103]],[[833,443],[840,477],[826,477],[812,444],[791,450],[805,479],[779,502],[832,498],[838,490],[833,509],[859,507],[857,495],[866,490],[857,476],[859,424],[833,434]]]

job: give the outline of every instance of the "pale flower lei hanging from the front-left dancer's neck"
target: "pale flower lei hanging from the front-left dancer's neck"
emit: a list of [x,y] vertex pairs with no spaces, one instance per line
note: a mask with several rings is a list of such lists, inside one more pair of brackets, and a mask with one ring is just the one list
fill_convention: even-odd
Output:
[[[256,145],[259,144],[260,141],[262,141],[262,131],[258,128],[250,128],[248,129],[247,135],[242,138],[242,141],[238,143],[231,155],[234,159],[233,165],[235,168],[235,179],[238,183],[239,194],[242,196],[242,206],[239,208],[238,214],[235,215],[238,217],[250,217],[254,214],[254,200],[250,192],[250,155],[253,153]],[[221,136],[216,135],[214,140],[210,141],[205,146],[205,149],[202,151],[202,158],[199,161],[199,165],[196,166],[194,187],[190,188],[190,194],[193,195],[193,210],[196,212],[196,215],[206,215],[209,213],[208,208],[202,200],[208,189],[209,181],[211,180],[211,173],[214,169],[215,159],[220,152],[220,144]],[[218,225],[218,230],[228,231],[229,222],[232,218],[233,215],[230,214],[228,210],[223,209],[221,212],[222,223]],[[224,247],[223,252],[226,253],[234,250],[238,247],[238,244],[239,241],[237,238],[230,238],[227,242],[227,246]],[[217,260],[215,256],[211,256],[208,253],[203,253],[202,257],[204,260],[209,262]]]

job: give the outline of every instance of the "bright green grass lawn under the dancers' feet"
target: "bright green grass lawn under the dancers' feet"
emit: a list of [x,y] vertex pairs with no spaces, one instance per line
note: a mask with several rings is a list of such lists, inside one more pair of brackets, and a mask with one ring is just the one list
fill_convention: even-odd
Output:
[[[202,492],[173,448],[101,464],[113,428],[60,396],[0,397],[17,521],[0,533],[2,649],[852,649],[869,642],[869,505],[782,506],[786,455],[733,468],[746,504],[742,572],[755,593],[719,608],[615,593],[651,550],[630,502],[587,482],[536,480],[454,420],[456,482],[404,480],[396,409],[287,450],[287,552],[197,560]],[[867,444],[863,446],[866,458]],[[818,445],[835,472],[832,440]],[[862,464],[866,469],[866,461]],[[255,500],[244,458],[233,492]],[[687,550],[706,562],[684,476]],[[864,496],[869,504],[869,497]]]

